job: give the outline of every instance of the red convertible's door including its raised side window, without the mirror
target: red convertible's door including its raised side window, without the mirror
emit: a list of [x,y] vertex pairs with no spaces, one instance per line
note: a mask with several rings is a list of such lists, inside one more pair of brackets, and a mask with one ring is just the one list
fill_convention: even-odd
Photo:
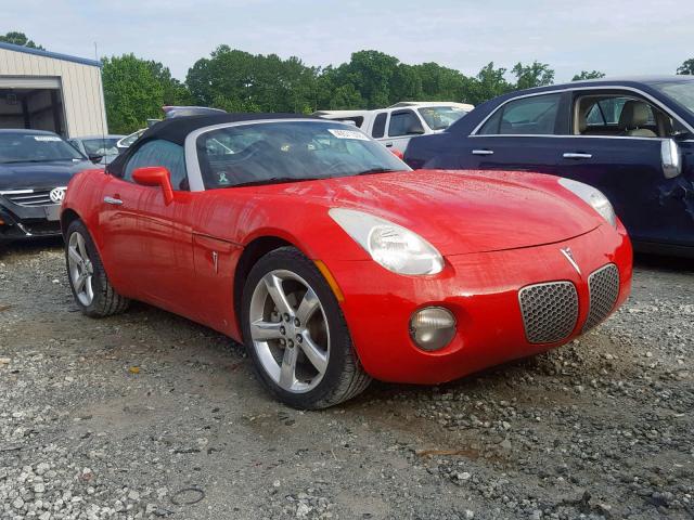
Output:
[[[166,204],[159,187],[131,181],[132,171],[145,166],[169,170],[171,203]],[[119,291],[194,317],[191,207],[198,194],[187,186],[183,148],[163,140],[146,142],[105,183],[99,227],[104,266]]]

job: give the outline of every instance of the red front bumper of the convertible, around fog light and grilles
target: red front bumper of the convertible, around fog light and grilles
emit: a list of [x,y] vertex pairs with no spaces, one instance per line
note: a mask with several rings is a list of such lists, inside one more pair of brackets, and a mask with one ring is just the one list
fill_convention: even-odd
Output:
[[[570,247],[580,273],[561,252]],[[329,268],[342,291],[354,344],[364,369],[385,381],[438,384],[564,344],[581,334],[590,313],[588,280],[614,263],[619,271],[617,301],[631,288],[632,249],[626,231],[602,225],[566,242],[506,251],[446,258],[436,276],[390,273],[373,261],[337,261]],[[554,342],[531,343],[518,292],[529,285],[566,281],[576,287],[578,317],[570,334]],[[416,309],[442,306],[453,312],[458,332],[444,349],[426,352],[410,339]]]

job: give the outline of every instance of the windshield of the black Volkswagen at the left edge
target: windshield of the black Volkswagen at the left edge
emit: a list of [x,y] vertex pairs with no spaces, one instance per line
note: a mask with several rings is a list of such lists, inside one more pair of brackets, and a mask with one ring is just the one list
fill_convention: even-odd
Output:
[[0,132],[0,164],[83,158],[82,154],[57,135]]

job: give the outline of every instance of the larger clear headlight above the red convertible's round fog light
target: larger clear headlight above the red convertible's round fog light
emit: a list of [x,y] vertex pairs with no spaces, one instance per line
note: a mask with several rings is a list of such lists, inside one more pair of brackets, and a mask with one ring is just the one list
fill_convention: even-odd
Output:
[[329,214],[388,271],[423,275],[444,269],[444,258],[436,248],[410,230],[354,209],[332,208]]

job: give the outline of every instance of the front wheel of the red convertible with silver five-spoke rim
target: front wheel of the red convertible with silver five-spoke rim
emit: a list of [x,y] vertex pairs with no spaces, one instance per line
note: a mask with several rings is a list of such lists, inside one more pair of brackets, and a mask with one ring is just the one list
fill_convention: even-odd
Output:
[[262,257],[242,299],[243,337],[258,376],[296,408],[333,406],[371,382],[332,289],[293,247]]

